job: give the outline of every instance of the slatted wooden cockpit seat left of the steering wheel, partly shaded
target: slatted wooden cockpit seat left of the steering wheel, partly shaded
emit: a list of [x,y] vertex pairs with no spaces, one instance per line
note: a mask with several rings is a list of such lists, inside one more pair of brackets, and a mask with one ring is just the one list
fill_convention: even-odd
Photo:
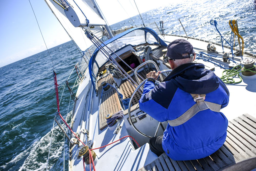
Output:
[[[98,83],[98,97],[99,97],[99,103],[101,98],[101,92],[102,92],[102,86],[101,83],[106,81],[106,83],[109,83],[110,85],[113,84],[114,80],[111,74],[109,74],[107,77],[101,79]],[[103,130],[105,127],[107,127],[105,116],[108,113],[115,114],[116,112],[121,110],[121,104],[118,98],[118,93],[114,88],[110,88],[106,91],[106,93],[103,92],[101,104],[100,104],[100,111],[99,111],[99,127],[100,130]]]

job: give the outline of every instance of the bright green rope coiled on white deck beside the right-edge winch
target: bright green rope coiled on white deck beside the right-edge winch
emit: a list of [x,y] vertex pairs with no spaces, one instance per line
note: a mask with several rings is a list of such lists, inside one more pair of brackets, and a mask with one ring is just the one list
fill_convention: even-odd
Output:
[[[238,69],[236,69],[237,67],[238,67]],[[224,70],[224,71],[222,72],[222,77],[220,77],[220,79],[221,79],[224,83],[226,83],[226,84],[237,84],[237,83],[240,83],[240,82],[242,82],[242,78],[241,78],[241,76],[239,75],[239,73],[242,72],[242,71],[251,71],[251,72],[256,73],[256,71],[252,71],[252,70],[251,70],[251,69],[253,69],[254,67],[255,67],[255,65],[253,65],[252,68],[248,68],[248,69],[246,69],[246,68],[243,67],[243,70],[239,71],[239,70],[242,68],[241,65],[235,66],[235,67],[233,67],[231,70],[229,70],[229,69]],[[236,70],[235,70],[235,69],[236,69]],[[224,73],[225,73],[225,74],[224,74]],[[240,80],[237,81],[237,82],[233,79],[233,78],[236,77],[236,76],[238,76],[238,77],[240,78]],[[230,78],[230,77],[232,77],[232,78]],[[231,80],[231,81],[229,81],[229,80]]]

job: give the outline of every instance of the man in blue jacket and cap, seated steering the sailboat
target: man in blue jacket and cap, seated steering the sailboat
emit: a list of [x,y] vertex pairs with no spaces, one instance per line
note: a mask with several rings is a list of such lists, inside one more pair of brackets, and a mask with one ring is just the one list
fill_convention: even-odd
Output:
[[168,121],[163,136],[150,139],[150,149],[173,160],[194,160],[216,152],[225,142],[228,120],[219,110],[226,107],[229,91],[201,63],[192,63],[195,52],[184,40],[167,46],[173,71],[155,87],[159,72],[147,74],[140,109],[159,122]]

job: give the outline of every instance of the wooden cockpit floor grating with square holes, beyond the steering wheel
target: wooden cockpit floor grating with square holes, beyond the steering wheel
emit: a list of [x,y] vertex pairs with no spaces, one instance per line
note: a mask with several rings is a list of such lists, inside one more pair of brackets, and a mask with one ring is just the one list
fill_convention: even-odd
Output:
[[[151,69],[150,71],[153,71],[153,70]],[[142,70],[141,72],[138,72],[138,74],[140,74],[140,76],[143,79],[146,79],[147,78],[146,74],[148,74],[150,71]],[[135,76],[133,75],[131,77],[138,84],[138,82],[136,81]],[[140,81],[142,81],[142,80],[140,79]],[[131,98],[132,93],[135,90],[134,86],[132,86],[132,84],[128,80],[122,81],[119,88],[120,88],[121,94],[123,94],[123,99]],[[137,104],[139,102],[140,98],[141,98],[141,94],[139,92],[136,92],[136,94],[134,95],[134,98],[132,99],[132,105]]]

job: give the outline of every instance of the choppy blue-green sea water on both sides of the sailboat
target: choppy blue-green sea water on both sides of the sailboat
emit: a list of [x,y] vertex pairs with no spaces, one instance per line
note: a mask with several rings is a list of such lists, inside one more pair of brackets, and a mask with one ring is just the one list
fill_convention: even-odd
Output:
[[[216,19],[219,31],[230,36],[229,19],[255,23],[255,1],[178,1],[167,6],[142,13],[144,23],[164,21],[166,34],[184,35],[179,24],[181,20],[188,36],[220,42],[210,19]],[[134,23],[142,24],[138,16]],[[134,25],[129,19],[111,25],[113,30]],[[147,25],[147,24],[146,24]],[[256,42],[256,24],[238,22],[244,40]],[[155,27],[154,24],[149,26]],[[229,38],[227,37],[229,41]],[[256,46],[245,41],[245,50],[255,54]],[[72,41],[49,49],[57,73],[59,98],[74,65],[81,60],[81,54]],[[81,66],[82,67],[82,66]],[[87,67],[85,65],[84,67]],[[52,62],[47,51],[0,68],[0,170],[45,170],[51,140],[53,119],[57,110],[52,76]],[[68,80],[74,85],[75,93],[79,79],[74,70]],[[70,93],[65,87],[60,102],[62,116],[70,115],[73,102],[69,106]],[[63,148],[63,133],[54,127],[48,169],[68,170],[67,141]],[[63,151],[65,149],[65,155]],[[65,160],[64,160],[65,156]],[[65,161],[65,162],[64,162]]]

